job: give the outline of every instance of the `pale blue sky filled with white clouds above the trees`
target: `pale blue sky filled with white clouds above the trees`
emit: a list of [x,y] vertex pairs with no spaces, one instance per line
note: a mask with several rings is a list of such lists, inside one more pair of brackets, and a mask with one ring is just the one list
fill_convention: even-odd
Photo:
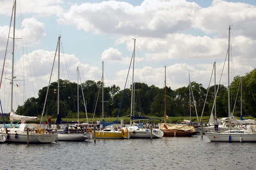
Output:
[[[13,2],[0,4],[3,68]],[[227,85],[229,26],[230,82],[256,65],[254,0],[17,0],[16,9],[14,109],[48,85],[59,35],[60,78],[72,82],[77,67],[82,82],[101,80],[104,61],[105,85],[123,89],[135,38],[134,82],[163,88],[166,65],[166,85],[173,90],[187,86],[189,75],[207,88],[214,84],[216,62],[216,84]],[[10,111],[12,42],[9,38],[0,89],[3,112]],[[57,80],[57,61],[51,82]]]

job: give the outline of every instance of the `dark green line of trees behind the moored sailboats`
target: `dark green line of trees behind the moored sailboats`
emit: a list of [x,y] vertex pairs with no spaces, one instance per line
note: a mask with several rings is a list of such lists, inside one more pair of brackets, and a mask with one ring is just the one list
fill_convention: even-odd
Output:
[[[253,116],[256,113],[256,69],[254,68],[250,73],[244,76],[236,76],[230,84],[230,105],[231,111],[234,109],[234,116],[240,116],[241,106],[240,102],[240,79],[242,78],[242,115]],[[52,82],[49,88],[45,114],[57,117],[57,90],[58,82]],[[81,86],[83,88],[84,99],[81,96]],[[68,80],[60,79],[60,100],[59,100],[59,114],[62,118],[76,118],[79,102],[79,118],[85,118],[85,105],[87,115],[92,117],[95,113],[96,117],[102,115],[102,82],[95,82],[87,80],[79,85],[79,101],[77,101],[77,83]],[[164,94],[165,88],[158,88],[155,85],[148,86],[145,83],[135,82],[136,91],[134,91],[134,115],[145,116],[163,116],[165,111]],[[191,82],[192,93],[191,96],[191,116],[196,116],[195,108],[198,116],[204,108],[204,116],[209,116],[212,111],[214,103],[214,85],[209,87],[207,95],[207,88],[204,88],[201,83]],[[232,87],[232,88],[231,88]],[[216,89],[218,85],[216,85]],[[19,105],[17,113],[24,116],[38,116],[42,113],[44,101],[47,94],[47,87],[38,91],[38,98],[31,97]],[[121,104],[123,90],[119,86],[112,85],[111,87],[104,87],[104,116],[116,117]],[[220,85],[216,98],[216,113],[217,117],[228,116],[228,91],[227,87]],[[119,116],[128,116],[131,114],[131,85],[126,88],[122,106],[120,108]],[[189,116],[189,85],[172,90],[166,86],[166,114],[168,116]]]

